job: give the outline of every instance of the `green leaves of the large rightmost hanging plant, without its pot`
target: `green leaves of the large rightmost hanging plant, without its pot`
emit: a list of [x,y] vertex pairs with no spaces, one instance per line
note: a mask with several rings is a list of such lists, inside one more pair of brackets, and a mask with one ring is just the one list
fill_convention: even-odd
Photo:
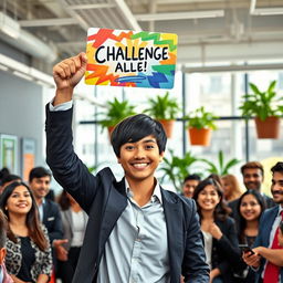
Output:
[[265,92],[259,91],[255,84],[250,83],[251,94],[243,95],[243,104],[239,107],[247,117],[256,116],[265,120],[270,116],[279,117],[283,113],[283,105],[279,105],[283,97],[277,98],[274,91],[276,81],[272,81]]

